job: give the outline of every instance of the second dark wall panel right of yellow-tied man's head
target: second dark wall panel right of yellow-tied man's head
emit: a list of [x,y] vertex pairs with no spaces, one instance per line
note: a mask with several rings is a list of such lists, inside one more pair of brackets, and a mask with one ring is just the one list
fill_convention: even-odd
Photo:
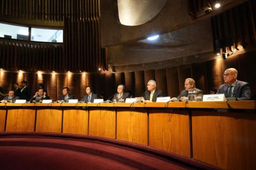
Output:
[[166,69],[168,96],[177,97],[180,94],[178,67]]

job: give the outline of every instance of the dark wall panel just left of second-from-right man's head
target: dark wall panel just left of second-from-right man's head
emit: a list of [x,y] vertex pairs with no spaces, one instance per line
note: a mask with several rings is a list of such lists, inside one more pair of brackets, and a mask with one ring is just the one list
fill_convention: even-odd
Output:
[[179,86],[180,91],[184,90],[184,82],[187,78],[191,78],[190,64],[182,65],[178,67],[179,70]]

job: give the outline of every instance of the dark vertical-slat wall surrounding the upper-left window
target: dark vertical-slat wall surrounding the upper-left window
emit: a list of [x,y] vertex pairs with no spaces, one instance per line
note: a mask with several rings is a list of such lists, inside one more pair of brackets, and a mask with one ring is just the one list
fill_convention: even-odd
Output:
[[26,71],[106,70],[105,53],[100,47],[99,8],[99,0],[0,0],[1,18],[23,19],[25,25],[31,20],[42,25],[45,21],[64,23],[63,45],[1,38],[0,66]]

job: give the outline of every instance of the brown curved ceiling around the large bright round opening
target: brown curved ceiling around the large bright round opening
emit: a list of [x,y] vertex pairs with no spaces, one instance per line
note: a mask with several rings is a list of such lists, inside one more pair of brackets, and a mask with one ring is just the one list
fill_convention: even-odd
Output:
[[[134,5],[136,0],[130,2]],[[144,4],[137,4],[138,9],[148,6],[154,12],[159,10],[155,9],[160,6],[159,4],[154,8],[153,1],[143,2]],[[150,2],[153,5],[145,4]],[[222,1],[223,6],[218,10],[213,8],[210,14],[205,14],[203,7],[197,11],[191,10],[191,4],[188,2],[187,0],[161,1],[165,5],[159,13],[155,12],[151,20],[135,26],[127,26],[118,20],[120,14],[117,13],[118,1],[102,1],[101,46],[106,48],[111,71],[160,69],[219,57],[214,52],[211,17],[245,1]],[[114,10],[110,5],[114,6]],[[136,15],[137,11],[140,12],[137,8],[132,11],[133,15]],[[157,40],[146,39],[154,34],[160,35]]]

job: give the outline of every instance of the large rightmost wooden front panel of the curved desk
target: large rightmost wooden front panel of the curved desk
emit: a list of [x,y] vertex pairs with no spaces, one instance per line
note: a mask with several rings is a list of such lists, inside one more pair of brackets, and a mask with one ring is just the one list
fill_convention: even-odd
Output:
[[255,131],[255,114],[193,111],[193,157],[221,169],[255,169]]

